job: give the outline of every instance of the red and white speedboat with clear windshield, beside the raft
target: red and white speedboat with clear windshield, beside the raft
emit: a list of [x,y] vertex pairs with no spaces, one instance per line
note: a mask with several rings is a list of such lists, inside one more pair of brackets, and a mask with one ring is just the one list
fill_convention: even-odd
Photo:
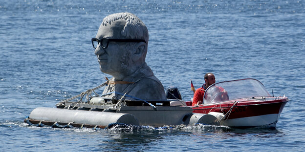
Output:
[[[219,87],[225,91],[219,92]],[[289,99],[270,95],[263,84],[252,78],[223,81],[207,88],[203,104],[193,108],[193,113],[212,114],[217,125],[229,127],[275,127]],[[191,101],[186,103],[192,105]],[[211,123],[211,124],[213,124]]]

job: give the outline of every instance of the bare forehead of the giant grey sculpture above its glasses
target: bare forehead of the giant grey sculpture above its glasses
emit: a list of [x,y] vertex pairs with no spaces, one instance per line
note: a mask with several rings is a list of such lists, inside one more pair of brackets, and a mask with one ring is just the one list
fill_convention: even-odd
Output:
[[116,38],[120,39],[122,38],[121,31],[123,30],[125,26],[126,21],[124,19],[118,19],[111,24],[103,25],[99,27],[99,30],[97,32],[96,38],[102,39],[102,38]]

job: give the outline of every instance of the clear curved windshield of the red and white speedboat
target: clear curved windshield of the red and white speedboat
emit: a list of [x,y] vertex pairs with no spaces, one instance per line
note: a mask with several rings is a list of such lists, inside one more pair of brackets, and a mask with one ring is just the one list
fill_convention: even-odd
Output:
[[232,81],[223,81],[211,85],[204,93],[204,104],[218,103],[228,100],[271,96],[256,79],[247,78]]

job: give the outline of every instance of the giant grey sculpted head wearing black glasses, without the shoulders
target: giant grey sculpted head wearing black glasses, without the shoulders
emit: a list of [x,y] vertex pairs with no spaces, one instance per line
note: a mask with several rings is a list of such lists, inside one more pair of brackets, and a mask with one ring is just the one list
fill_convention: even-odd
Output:
[[93,43],[100,70],[123,79],[145,63],[148,30],[131,13],[111,14],[103,19]]

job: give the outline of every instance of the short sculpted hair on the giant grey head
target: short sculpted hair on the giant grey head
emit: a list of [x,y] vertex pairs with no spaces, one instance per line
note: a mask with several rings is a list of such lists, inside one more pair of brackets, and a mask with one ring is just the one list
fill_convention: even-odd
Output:
[[145,24],[137,16],[131,13],[116,13],[111,14],[103,19],[102,25],[107,26],[111,22],[124,19],[126,24],[121,31],[121,35],[125,38],[144,39],[148,44],[148,29]]

